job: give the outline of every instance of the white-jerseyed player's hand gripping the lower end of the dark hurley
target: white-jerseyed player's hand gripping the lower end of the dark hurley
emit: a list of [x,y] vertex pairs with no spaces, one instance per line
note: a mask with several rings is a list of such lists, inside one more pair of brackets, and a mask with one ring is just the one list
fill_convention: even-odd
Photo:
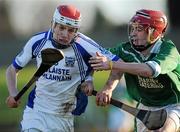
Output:
[[6,99],[6,104],[9,108],[17,108],[20,104],[20,100],[15,101],[14,97],[9,96]]

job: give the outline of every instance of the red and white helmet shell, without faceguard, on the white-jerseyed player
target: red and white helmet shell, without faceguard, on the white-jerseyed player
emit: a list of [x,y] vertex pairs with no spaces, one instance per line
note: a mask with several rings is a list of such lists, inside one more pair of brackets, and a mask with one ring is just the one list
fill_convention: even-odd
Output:
[[79,28],[80,22],[81,13],[72,5],[58,6],[53,15],[53,23],[59,23],[74,28]]

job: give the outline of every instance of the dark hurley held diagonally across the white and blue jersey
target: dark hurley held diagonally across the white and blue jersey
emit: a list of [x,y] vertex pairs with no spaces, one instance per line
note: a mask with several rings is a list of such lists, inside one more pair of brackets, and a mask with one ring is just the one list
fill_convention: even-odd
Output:
[[53,66],[58,61],[64,58],[62,52],[57,49],[47,48],[41,51],[42,63],[40,67],[37,69],[36,73],[29,80],[29,82],[21,89],[21,91],[14,97],[17,101],[21,98],[21,96],[28,90],[28,88],[36,81],[38,78],[46,72],[51,66]]

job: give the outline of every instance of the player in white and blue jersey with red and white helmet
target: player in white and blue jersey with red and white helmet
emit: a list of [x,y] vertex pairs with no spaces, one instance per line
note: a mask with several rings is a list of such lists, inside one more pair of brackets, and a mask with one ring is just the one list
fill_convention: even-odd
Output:
[[[65,56],[36,81],[21,121],[23,132],[74,131],[73,115],[80,115],[85,111],[86,95],[91,95],[93,89],[89,58],[100,52],[111,60],[118,59],[95,41],[78,32],[80,21],[81,13],[74,6],[58,6],[53,15],[51,28],[32,36],[7,68],[9,97],[6,103],[10,108],[16,108],[20,104],[20,100],[14,100],[18,93],[19,70],[31,59],[36,59],[39,67],[39,54],[46,48],[61,50]],[[77,89],[82,82],[85,93]]]

